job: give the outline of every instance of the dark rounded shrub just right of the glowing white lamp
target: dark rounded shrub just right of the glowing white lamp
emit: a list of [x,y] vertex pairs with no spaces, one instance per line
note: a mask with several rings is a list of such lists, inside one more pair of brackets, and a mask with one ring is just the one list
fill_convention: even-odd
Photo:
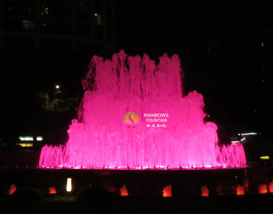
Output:
[[86,187],[77,193],[75,201],[84,204],[108,203],[112,195],[101,187]]

